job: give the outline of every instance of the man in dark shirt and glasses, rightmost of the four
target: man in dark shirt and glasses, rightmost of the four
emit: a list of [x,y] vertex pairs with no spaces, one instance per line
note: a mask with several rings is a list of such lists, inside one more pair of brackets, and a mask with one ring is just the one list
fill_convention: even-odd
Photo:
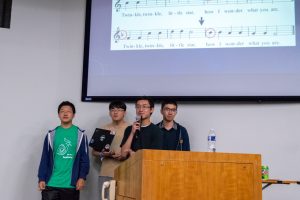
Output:
[[177,107],[177,102],[173,100],[164,101],[161,104],[160,112],[163,120],[157,125],[163,131],[164,149],[190,151],[189,135],[186,128],[174,121]]

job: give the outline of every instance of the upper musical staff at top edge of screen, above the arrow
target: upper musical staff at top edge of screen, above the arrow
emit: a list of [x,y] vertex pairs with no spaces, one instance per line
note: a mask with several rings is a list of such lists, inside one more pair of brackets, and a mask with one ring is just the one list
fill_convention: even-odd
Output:
[[204,6],[204,5],[241,5],[241,4],[263,4],[284,3],[295,0],[115,0],[113,6],[116,12],[138,8],[156,7],[180,7],[180,6]]

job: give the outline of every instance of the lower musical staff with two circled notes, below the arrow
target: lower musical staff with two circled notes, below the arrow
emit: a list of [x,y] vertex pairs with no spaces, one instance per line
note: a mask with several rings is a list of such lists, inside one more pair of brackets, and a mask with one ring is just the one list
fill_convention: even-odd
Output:
[[231,26],[185,29],[152,29],[152,30],[122,30],[117,28],[114,41],[131,40],[173,40],[224,37],[258,37],[258,36],[288,36],[295,35],[293,25],[277,26]]

